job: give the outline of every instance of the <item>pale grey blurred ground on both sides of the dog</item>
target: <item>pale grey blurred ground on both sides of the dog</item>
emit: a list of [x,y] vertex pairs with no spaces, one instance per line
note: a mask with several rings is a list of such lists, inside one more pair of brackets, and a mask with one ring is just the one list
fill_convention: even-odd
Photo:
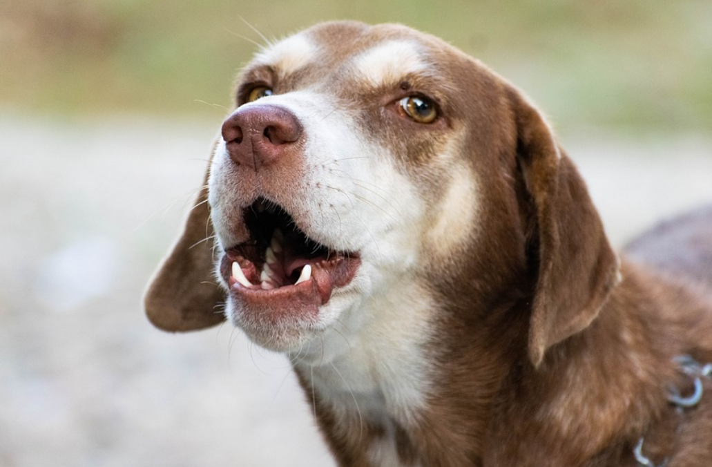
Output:
[[[0,467],[332,466],[286,360],[140,296],[220,118],[0,115]],[[712,201],[712,140],[564,141],[617,246]]]

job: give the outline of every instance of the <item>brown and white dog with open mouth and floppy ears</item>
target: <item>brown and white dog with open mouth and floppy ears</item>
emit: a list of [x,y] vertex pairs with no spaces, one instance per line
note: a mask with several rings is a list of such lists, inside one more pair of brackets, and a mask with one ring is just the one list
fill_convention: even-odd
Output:
[[340,466],[712,465],[712,301],[619,259],[513,85],[339,22],[265,48],[236,96],[157,327],[227,319],[288,355]]

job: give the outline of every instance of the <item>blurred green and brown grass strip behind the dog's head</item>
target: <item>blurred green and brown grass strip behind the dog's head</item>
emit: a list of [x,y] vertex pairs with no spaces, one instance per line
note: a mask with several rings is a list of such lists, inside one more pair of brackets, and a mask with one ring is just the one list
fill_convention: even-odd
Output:
[[2,0],[0,107],[70,118],[224,114],[268,38],[329,19],[445,38],[564,132],[712,131],[712,1]]

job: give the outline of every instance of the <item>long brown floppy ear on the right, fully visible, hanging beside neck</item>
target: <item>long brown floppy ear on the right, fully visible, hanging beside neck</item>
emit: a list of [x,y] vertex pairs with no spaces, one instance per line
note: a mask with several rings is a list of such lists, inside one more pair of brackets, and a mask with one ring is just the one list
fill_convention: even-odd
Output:
[[518,159],[533,204],[533,262],[538,270],[529,329],[529,357],[537,367],[546,350],[584,330],[597,317],[618,278],[586,185],[538,110],[511,94]]

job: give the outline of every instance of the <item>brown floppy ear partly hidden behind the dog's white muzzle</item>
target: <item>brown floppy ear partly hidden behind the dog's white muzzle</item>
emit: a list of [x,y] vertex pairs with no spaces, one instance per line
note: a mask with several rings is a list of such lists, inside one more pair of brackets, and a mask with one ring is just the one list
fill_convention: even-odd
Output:
[[183,233],[158,266],[146,290],[146,315],[162,330],[199,330],[225,319],[220,309],[225,293],[212,273],[213,226],[207,197],[205,181]]

